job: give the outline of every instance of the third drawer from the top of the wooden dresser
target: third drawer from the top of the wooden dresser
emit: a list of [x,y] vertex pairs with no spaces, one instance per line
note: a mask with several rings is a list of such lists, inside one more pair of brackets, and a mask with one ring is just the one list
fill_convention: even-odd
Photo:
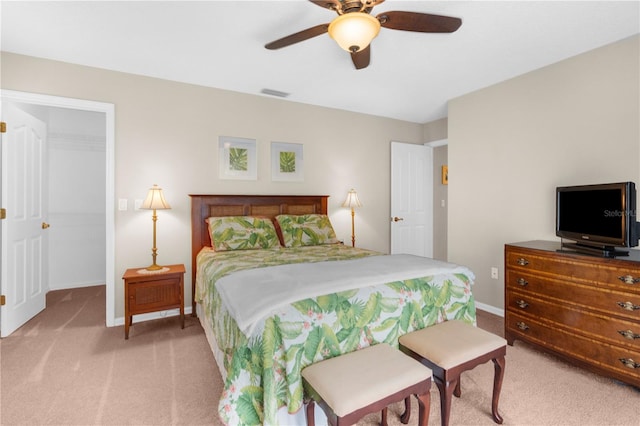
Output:
[[554,328],[565,328],[575,334],[640,351],[640,322],[611,318],[567,304],[550,302],[530,293],[514,291],[509,292],[507,297],[508,311]]

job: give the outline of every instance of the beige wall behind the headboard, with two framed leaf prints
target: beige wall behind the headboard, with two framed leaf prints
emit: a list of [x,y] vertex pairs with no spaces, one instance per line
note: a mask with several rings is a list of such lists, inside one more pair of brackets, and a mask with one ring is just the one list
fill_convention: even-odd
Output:
[[[150,212],[132,207],[152,184],[172,206],[158,212],[158,263],[184,263],[189,283],[188,194],[327,194],[338,237],[349,241],[340,205],[355,188],[363,203],[356,244],[388,252],[390,141],[423,142],[420,124],[9,53],[1,72],[3,89],[115,104],[115,198],[129,200],[128,211],[115,212],[116,318],[122,273],[151,261]],[[257,181],[218,178],[220,135],[257,140]],[[271,181],[271,141],[304,145],[304,183]]]

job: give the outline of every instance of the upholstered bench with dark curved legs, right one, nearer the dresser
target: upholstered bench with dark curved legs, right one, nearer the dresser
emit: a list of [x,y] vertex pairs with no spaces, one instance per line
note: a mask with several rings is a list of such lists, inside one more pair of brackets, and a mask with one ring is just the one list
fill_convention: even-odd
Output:
[[[504,376],[504,357],[507,353],[505,339],[463,321],[452,320],[400,336],[399,342],[401,351],[432,370],[440,390],[443,426],[449,424],[451,394],[460,397],[460,374],[489,360],[493,361],[495,373],[491,414],[496,423],[502,423],[502,417],[498,413],[498,400]],[[405,405],[409,411],[408,398]]]

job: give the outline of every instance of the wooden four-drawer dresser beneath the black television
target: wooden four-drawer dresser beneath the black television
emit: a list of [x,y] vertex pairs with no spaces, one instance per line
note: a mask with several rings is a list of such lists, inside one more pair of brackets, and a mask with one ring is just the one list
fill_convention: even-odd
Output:
[[505,338],[640,387],[640,252],[612,259],[559,242],[505,245]]

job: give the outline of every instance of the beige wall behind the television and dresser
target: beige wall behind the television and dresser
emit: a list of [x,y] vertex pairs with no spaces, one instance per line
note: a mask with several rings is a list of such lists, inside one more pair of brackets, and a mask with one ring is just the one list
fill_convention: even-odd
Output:
[[[640,36],[449,103],[449,261],[504,306],[504,244],[555,237],[555,187],[640,183]],[[500,279],[490,279],[498,266]]]

